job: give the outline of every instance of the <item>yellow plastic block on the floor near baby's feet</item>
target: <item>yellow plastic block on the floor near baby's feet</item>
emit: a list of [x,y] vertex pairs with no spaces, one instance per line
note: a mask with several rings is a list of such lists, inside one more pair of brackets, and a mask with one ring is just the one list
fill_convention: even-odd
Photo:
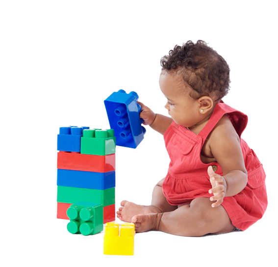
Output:
[[103,237],[104,255],[134,255],[134,223],[121,225],[119,235],[119,223],[106,223]]

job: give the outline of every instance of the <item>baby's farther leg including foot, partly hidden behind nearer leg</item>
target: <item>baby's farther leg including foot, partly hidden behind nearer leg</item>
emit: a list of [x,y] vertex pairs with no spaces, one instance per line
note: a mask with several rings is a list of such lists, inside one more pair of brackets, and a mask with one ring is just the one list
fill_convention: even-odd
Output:
[[174,211],[177,206],[172,206],[166,200],[162,192],[162,183],[164,179],[155,184],[152,190],[152,203],[150,206],[137,205],[135,203],[123,200],[121,206],[117,211],[117,217],[125,222],[131,222],[134,215],[149,214],[149,213],[162,213]]

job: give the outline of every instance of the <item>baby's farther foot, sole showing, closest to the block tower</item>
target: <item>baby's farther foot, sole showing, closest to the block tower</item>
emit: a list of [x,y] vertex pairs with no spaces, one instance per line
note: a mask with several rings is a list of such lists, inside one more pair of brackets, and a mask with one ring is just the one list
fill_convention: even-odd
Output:
[[162,211],[154,206],[143,206],[123,200],[117,211],[117,217],[121,221],[130,223],[133,216],[138,214],[161,213]]

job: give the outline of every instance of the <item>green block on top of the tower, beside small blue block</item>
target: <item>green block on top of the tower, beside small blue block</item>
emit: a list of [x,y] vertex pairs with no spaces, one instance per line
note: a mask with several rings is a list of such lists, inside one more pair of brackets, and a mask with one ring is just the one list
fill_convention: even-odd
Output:
[[105,156],[116,152],[114,130],[83,130],[81,137],[81,154]]

